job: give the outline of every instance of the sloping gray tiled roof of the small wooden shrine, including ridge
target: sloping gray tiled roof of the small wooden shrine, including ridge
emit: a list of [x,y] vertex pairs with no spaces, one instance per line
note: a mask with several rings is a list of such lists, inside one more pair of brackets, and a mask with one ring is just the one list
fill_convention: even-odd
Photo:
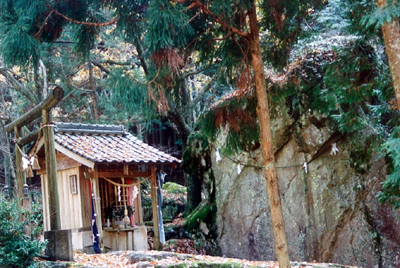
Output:
[[123,126],[56,123],[54,140],[59,146],[96,163],[181,162],[144,143]]

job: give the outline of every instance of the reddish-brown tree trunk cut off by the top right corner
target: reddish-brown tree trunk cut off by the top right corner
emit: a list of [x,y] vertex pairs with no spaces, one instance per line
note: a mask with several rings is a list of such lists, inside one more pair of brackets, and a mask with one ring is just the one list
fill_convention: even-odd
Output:
[[[387,0],[377,0],[378,7],[387,5]],[[400,111],[400,24],[399,20],[393,18],[389,23],[382,26],[383,39],[385,40],[386,54],[392,73],[393,88],[396,96],[396,106]]]

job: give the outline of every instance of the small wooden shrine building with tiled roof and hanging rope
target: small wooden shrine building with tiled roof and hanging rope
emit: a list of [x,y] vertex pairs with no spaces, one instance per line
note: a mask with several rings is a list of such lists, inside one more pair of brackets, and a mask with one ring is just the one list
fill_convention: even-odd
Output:
[[[140,183],[150,180],[155,248],[158,247],[156,172],[180,160],[153,148],[123,126],[55,123],[57,187],[61,229],[72,230],[72,246],[146,250]],[[42,177],[44,229],[50,230],[50,200],[43,137],[34,147]],[[50,187],[51,189],[51,187]],[[96,232],[94,227],[97,227]]]

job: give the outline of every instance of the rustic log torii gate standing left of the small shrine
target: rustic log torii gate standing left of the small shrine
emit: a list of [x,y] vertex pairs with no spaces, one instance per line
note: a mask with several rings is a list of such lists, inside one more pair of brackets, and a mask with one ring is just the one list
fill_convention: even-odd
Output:
[[[29,142],[35,141],[38,138],[40,131],[42,131],[46,153],[46,173],[49,187],[49,210],[50,210],[50,232],[58,231],[61,229],[60,223],[60,211],[59,211],[59,200],[58,200],[58,188],[57,188],[57,163],[56,163],[56,152],[54,146],[54,126],[52,123],[51,109],[56,106],[64,97],[64,90],[61,87],[55,87],[47,97],[29,112],[20,116],[19,118],[12,121],[10,124],[5,126],[5,131],[11,133],[14,131],[15,138],[15,164],[17,169],[17,197],[19,204],[23,206],[23,186],[26,183],[25,172],[21,170],[22,152],[20,147],[28,144]],[[33,131],[21,137],[21,128],[33,120],[42,116],[42,126],[40,129]],[[45,234],[46,236],[46,234]],[[57,235],[48,236],[49,244],[47,254],[50,255],[51,259],[54,260],[72,260],[72,246],[63,246],[63,251],[58,254],[57,247]],[[65,237],[63,238],[65,239]],[[55,240],[55,241],[52,241]],[[67,238],[68,240],[68,238]],[[71,239],[69,239],[71,240]],[[68,242],[68,241],[67,241]],[[71,241],[69,241],[71,242]],[[67,249],[67,252],[65,250]]]

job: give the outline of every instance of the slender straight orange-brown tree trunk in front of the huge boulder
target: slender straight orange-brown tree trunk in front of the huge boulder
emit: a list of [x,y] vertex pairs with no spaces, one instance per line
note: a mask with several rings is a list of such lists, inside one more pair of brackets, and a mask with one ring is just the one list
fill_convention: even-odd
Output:
[[279,267],[286,268],[290,267],[290,260],[285,234],[285,223],[283,220],[281,197],[279,193],[278,177],[275,168],[264,64],[261,57],[260,36],[254,2],[253,9],[249,14],[249,19],[251,29],[251,59],[257,92],[257,117],[260,124],[261,149],[264,158],[265,179],[267,181],[269,205],[271,209],[275,250]]

